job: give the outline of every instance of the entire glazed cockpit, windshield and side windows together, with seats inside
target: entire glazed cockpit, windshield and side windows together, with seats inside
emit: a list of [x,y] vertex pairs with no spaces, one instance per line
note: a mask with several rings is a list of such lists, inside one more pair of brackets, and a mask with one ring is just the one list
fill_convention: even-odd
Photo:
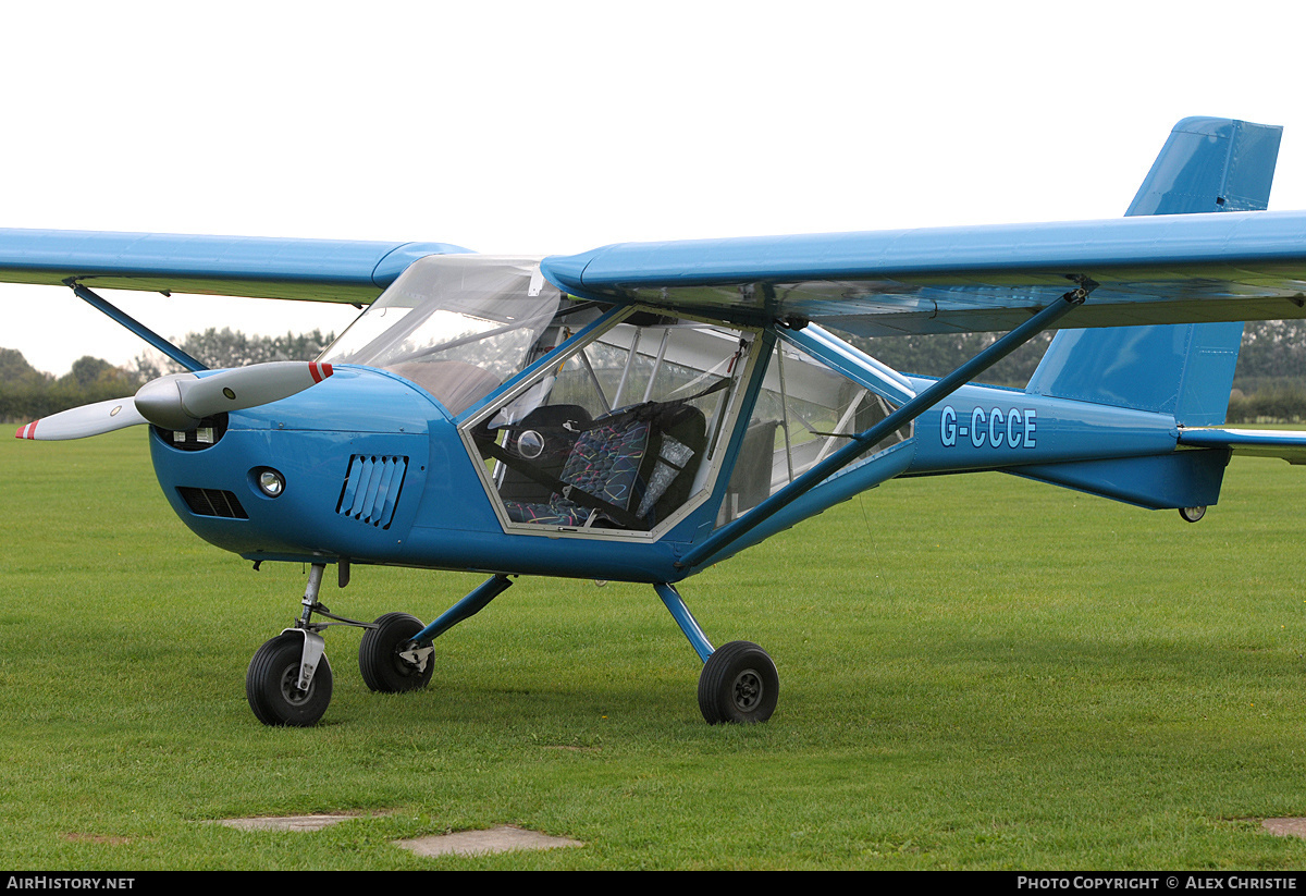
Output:
[[900,394],[773,333],[573,299],[539,259],[481,255],[413,264],[320,360],[428,392],[524,534],[657,538],[709,500],[724,525]]

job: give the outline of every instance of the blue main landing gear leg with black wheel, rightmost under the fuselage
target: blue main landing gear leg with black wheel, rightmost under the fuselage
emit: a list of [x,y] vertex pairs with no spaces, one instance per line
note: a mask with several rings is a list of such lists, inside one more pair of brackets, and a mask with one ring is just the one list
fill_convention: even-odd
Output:
[[713,648],[675,586],[660,583],[653,588],[703,660],[699,711],[708,724],[764,722],[771,718],[780,696],[780,675],[767,652],[748,641],[730,641]]

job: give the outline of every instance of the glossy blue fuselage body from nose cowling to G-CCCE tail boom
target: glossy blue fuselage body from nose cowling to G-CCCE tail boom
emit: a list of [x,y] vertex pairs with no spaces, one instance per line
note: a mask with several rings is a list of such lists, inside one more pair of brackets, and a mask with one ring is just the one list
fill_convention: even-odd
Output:
[[[929,380],[912,383],[921,389]],[[748,419],[738,417],[735,430]],[[457,422],[413,383],[364,367],[337,367],[313,389],[229,414],[212,444],[176,439],[150,427],[154,466],[172,508],[200,537],[249,560],[673,583],[696,571],[678,560],[712,532],[726,496],[716,487],[656,537],[511,529],[495,512],[477,470],[481,458],[466,449]],[[917,418],[912,438],[884,452],[888,460],[852,465],[735,550],[892,474],[1074,469],[1173,455],[1175,443],[1166,414],[968,385]],[[265,470],[283,482],[274,496],[260,487]]]

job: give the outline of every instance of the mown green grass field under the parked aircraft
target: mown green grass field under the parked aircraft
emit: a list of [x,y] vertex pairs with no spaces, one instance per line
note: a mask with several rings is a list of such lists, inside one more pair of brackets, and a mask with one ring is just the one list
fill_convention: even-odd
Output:
[[[299,566],[178,521],[141,430],[0,439],[8,869],[1301,869],[1306,470],[1239,460],[1205,520],[1000,474],[891,482],[682,586],[776,658],[709,728],[646,586],[522,579],[371,694],[333,630],[324,722],[244,699]],[[324,601],[431,619],[477,579],[355,567]],[[358,812],[315,833],[213,819]],[[423,859],[516,824],[579,849]]]

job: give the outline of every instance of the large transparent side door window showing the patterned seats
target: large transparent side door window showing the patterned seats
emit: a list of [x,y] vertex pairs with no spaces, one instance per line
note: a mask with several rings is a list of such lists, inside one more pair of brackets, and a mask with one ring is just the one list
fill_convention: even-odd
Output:
[[720,466],[751,347],[636,315],[478,414],[466,430],[507,525],[649,533],[682,516]]

